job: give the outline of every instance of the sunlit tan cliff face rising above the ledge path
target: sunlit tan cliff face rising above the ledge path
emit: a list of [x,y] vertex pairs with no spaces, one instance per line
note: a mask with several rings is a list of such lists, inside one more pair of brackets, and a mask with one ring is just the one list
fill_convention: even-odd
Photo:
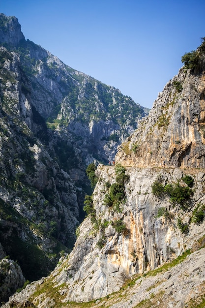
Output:
[[205,167],[205,61],[184,68],[159,93],[149,116],[118,150],[125,165]]

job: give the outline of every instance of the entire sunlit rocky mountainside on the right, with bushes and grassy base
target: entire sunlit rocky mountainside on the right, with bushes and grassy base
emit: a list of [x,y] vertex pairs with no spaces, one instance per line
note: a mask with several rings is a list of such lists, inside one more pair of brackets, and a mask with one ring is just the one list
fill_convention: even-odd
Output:
[[205,307],[205,38],[186,60],[98,165],[72,252],[3,308]]

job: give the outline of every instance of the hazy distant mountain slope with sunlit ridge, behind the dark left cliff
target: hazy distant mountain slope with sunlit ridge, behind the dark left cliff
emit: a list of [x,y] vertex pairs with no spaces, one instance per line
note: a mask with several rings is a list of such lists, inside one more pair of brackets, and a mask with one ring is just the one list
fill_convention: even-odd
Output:
[[72,132],[86,154],[113,159],[117,146],[146,115],[143,107],[25,40],[15,17],[0,18],[0,43],[19,55],[22,89],[29,102],[51,128]]

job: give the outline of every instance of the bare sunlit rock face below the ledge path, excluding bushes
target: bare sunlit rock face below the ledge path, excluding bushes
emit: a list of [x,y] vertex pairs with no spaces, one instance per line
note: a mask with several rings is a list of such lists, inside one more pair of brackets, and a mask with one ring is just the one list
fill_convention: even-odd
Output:
[[[57,284],[66,282],[65,301],[88,301],[115,292],[128,277],[173,260],[203,235],[203,225],[190,223],[189,233],[184,236],[177,227],[177,218],[190,222],[189,211],[184,213],[173,207],[168,197],[159,199],[151,193],[151,185],[159,176],[164,183],[182,181],[186,172],[181,169],[127,168],[127,201],[121,213],[104,203],[105,184],[115,182],[114,167],[99,166],[97,172],[100,180],[93,193],[93,202],[96,217],[101,222],[100,230],[86,218],[80,226],[75,247],[64,264],[64,271],[59,273],[56,269],[53,274],[53,281]],[[205,185],[205,174],[197,171],[191,175],[196,189],[191,206],[196,207],[199,202],[205,202],[201,190]],[[158,216],[160,207],[168,209],[170,216]],[[119,219],[126,226],[123,233],[117,232],[112,225]],[[105,222],[109,222],[106,227]],[[99,248],[102,238],[104,245]]]

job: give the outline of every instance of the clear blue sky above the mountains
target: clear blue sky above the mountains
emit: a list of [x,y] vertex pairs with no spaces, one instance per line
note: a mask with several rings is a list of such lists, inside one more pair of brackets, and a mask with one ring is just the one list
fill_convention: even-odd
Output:
[[0,0],[26,39],[151,108],[205,36],[205,0]]

